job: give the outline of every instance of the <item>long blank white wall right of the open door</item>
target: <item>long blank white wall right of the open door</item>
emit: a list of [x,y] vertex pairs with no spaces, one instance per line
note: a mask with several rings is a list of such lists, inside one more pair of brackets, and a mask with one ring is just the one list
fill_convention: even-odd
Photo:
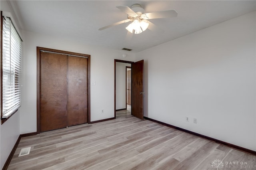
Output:
[[256,151],[255,15],[137,53],[145,60],[144,115]]

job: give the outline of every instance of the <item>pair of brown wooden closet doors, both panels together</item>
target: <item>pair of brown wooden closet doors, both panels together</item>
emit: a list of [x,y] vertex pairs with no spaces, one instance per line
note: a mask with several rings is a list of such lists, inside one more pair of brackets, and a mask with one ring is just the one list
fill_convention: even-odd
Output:
[[40,132],[88,122],[87,62],[40,51]]

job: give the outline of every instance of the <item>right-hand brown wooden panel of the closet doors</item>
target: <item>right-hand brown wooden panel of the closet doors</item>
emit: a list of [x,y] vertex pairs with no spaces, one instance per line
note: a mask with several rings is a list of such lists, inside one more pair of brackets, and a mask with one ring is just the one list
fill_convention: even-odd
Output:
[[87,123],[87,58],[68,56],[68,126]]

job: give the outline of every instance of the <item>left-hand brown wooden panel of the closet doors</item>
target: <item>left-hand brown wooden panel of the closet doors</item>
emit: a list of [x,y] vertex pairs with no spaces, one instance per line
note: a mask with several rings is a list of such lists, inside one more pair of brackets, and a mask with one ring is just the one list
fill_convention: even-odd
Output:
[[67,125],[67,57],[40,52],[40,132]]

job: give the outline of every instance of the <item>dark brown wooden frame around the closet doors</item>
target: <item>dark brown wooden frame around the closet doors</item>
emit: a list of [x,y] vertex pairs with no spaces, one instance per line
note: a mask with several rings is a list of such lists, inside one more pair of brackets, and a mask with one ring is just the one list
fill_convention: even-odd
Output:
[[77,56],[77,57],[87,57],[87,118],[88,118],[88,124],[91,123],[90,121],[90,55],[88,54],[82,54],[82,53],[74,53],[74,52],[69,52],[69,51],[62,51],[62,50],[57,50],[57,49],[50,49],[50,48],[44,48],[44,47],[36,47],[36,52],[37,52],[37,68],[36,68],[36,81],[37,81],[37,97],[36,97],[36,105],[37,105],[37,134],[40,133],[40,51],[48,51],[52,53],[61,53],[65,55],[71,55],[71,56]]

